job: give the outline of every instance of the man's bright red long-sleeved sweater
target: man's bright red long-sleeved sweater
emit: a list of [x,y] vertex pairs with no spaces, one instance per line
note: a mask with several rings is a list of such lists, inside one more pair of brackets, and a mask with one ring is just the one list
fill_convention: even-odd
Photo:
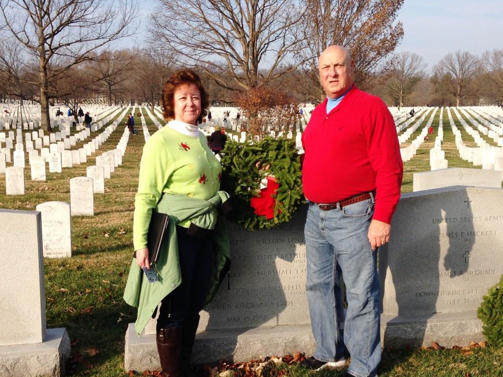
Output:
[[395,123],[378,97],[353,85],[326,114],[326,99],[302,133],[306,198],[337,203],[376,191],[373,219],[391,223],[400,199],[403,165]]

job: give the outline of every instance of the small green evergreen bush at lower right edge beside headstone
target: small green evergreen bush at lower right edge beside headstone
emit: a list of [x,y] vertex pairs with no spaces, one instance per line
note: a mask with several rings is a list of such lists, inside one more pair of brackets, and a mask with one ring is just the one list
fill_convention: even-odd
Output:
[[482,334],[487,341],[496,347],[503,347],[503,275],[498,284],[482,297],[477,314],[483,323]]

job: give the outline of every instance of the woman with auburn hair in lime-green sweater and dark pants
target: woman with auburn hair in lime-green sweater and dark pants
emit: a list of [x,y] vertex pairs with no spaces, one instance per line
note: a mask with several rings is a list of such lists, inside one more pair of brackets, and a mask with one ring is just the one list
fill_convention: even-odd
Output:
[[[161,303],[156,343],[162,375],[182,377],[189,375],[199,312],[228,270],[229,241],[219,213],[229,202],[219,191],[222,167],[199,131],[209,106],[199,76],[189,69],[173,73],[162,86],[161,104],[167,124],[150,136],[141,157],[133,221],[135,257],[124,300],[138,307],[138,334]],[[171,216],[154,265],[147,249],[152,211]],[[148,282],[142,268],[153,269],[158,281]]]

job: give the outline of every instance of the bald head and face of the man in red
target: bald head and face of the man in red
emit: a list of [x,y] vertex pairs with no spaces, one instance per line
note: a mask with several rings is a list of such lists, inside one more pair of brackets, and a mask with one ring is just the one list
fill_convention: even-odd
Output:
[[319,57],[319,78],[326,96],[341,97],[353,85],[354,63],[341,47],[328,47]]

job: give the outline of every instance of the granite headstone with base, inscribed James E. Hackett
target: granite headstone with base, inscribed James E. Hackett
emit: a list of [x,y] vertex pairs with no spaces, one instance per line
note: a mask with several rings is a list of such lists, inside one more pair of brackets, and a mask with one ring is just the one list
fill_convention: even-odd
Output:
[[454,186],[402,195],[380,250],[384,347],[481,340],[476,310],[503,273],[503,190]]

